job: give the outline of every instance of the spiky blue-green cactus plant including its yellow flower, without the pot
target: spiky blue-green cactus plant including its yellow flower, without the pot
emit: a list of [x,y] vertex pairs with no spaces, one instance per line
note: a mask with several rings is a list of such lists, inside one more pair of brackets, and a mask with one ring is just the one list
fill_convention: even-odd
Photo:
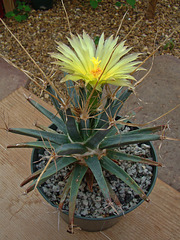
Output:
[[[151,148],[151,156],[155,158],[150,141],[162,139],[161,134],[154,133],[162,131],[165,127],[138,129],[130,122],[131,115],[118,116],[124,102],[137,86],[137,82],[133,84],[135,78],[132,73],[141,70],[141,62],[136,61],[139,54],[128,54],[130,48],[125,47],[125,42],[117,43],[118,38],[112,36],[105,40],[104,34],[101,35],[97,47],[85,32],[82,36],[72,35],[68,40],[73,49],[59,42],[57,43],[59,52],[51,53],[51,56],[57,60],[55,64],[65,72],[62,82],[65,82],[67,91],[59,92],[50,80],[45,90],[49,93],[57,114],[54,115],[28,98],[28,101],[49,118],[53,125],[47,127],[36,124],[39,128],[37,130],[10,128],[9,131],[12,133],[31,136],[38,141],[9,147],[35,148],[33,156],[36,157],[38,151],[42,153],[46,149],[49,152],[45,165],[39,170],[34,167],[34,162],[44,160],[44,156],[40,160],[32,160],[33,173],[21,184],[24,186],[32,181],[26,193],[41,187],[62,169],[69,168],[57,207],[64,212],[63,204],[68,198],[69,232],[73,233],[76,198],[83,181],[87,183],[90,191],[93,191],[93,184],[96,182],[107,206],[114,209],[118,216],[121,214],[117,209],[122,212],[121,203],[105,172],[120,178],[140,198],[149,201],[147,196],[149,193],[145,194],[136,181],[124,171],[121,164],[125,160],[152,165],[154,181],[156,167],[161,164],[156,159],[154,161],[127,154],[120,148],[128,144],[146,143]],[[116,86],[115,90],[112,90],[110,85]],[[129,126],[130,131],[122,131],[124,126]],[[42,189],[40,191],[42,192]],[[115,205],[118,207],[115,208]],[[67,217],[63,215],[63,218]]]

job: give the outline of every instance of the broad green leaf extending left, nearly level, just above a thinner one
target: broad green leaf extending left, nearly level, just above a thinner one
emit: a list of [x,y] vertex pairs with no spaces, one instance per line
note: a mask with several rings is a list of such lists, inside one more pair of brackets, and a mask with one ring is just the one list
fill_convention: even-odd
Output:
[[27,128],[9,128],[9,132],[25,135],[29,137],[34,137],[40,140],[48,140],[50,142],[54,142],[57,144],[65,144],[69,143],[69,139],[66,135],[59,134],[59,133],[49,133],[34,129],[27,129]]

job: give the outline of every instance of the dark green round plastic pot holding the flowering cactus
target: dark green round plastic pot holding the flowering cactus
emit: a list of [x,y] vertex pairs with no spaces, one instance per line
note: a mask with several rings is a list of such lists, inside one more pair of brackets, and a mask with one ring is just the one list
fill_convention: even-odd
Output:
[[[54,126],[51,126],[53,129]],[[146,144],[150,145],[150,152],[151,152],[151,156],[153,158],[153,160],[155,162],[157,162],[157,156],[156,156],[156,152],[155,149],[152,145],[151,142],[146,142]],[[40,149],[34,149],[32,152],[32,156],[31,156],[31,172],[35,172],[35,165],[33,164],[33,162],[37,161],[38,159],[38,154],[42,153],[43,154],[44,150],[40,150]],[[156,182],[156,178],[157,178],[157,167],[153,166],[153,172],[152,172],[153,176],[152,176],[152,181],[151,181],[151,186],[149,188],[149,191],[147,193],[147,196],[149,196],[149,194],[151,193],[152,189],[154,188],[155,182]],[[40,187],[38,187],[38,191],[40,192],[40,194],[43,196],[43,198],[50,203],[53,207],[57,208],[58,206],[53,204],[48,198],[47,196],[43,193],[43,191],[41,190]],[[106,218],[87,218],[87,217],[79,217],[75,215],[75,219],[74,219],[74,224],[77,225],[78,227],[80,227],[81,229],[85,230],[85,231],[90,231],[90,232],[96,232],[96,231],[102,231],[105,230],[107,228],[112,227],[114,224],[116,224],[120,217],[124,214],[127,214],[131,211],[133,211],[134,209],[136,209],[139,205],[141,205],[144,202],[144,200],[141,200],[137,205],[135,205],[134,207],[132,207],[131,209],[129,209],[128,211],[125,211],[122,214],[116,215],[116,216],[110,216],[110,217],[106,217]],[[68,223],[68,212],[62,212],[61,213],[61,217],[62,219]]]

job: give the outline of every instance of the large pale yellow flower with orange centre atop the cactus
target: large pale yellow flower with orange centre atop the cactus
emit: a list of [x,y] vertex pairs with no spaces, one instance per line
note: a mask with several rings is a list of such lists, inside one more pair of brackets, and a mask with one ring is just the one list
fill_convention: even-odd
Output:
[[[139,54],[133,53],[125,56],[131,48],[124,46],[124,41],[117,44],[118,37],[113,36],[104,40],[104,33],[99,39],[96,48],[94,41],[88,34],[72,36],[68,38],[72,47],[62,42],[58,43],[60,53],[52,53],[53,58],[58,59],[56,64],[61,70],[68,73],[63,81],[84,80],[96,89],[102,91],[106,83],[116,86],[131,86],[130,81],[135,80],[131,73],[136,69],[139,61],[135,61]],[[97,83],[98,82],[98,83]]]

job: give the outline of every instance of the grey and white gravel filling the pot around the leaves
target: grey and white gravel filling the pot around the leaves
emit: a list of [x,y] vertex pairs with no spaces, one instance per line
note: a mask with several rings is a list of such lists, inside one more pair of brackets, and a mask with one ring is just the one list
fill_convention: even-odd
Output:
[[[124,131],[129,131],[129,128],[126,127]],[[117,151],[152,159],[150,154],[150,146],[147,144],[126,145],[117,149]],[[43,157],[43,160],[35,163],[37,170],[45,166],[49,157],[49,153],[45,151],[44,155],[39,154],[38,157],[39,159]],[[119,161],[119,164],[121,168],[125,170],[137,182],[143,191],[147,193],[151,185],[153,167],[146,164],[134,163],[130,161]],[[43,183],[40,187],[47,198],[49,198],[49,200],[55,205],[58,205],[60,202],[60,195],[62,194],[63,188],[65,186],[65,178],[68,172],[70,172],[69,167],[62,169],[61,171],[57,172],[57,174],[48,179],[45,183]],[[115,210],[112,207],[108,206],[97,183],[94,181],[93,191],[91,192],[87,187],[86,181],[83,181],[80,185],[76,200],[76,216],[88,218],[102,218],[113,216],[131,209],[141,201],[139,195],[137,195],[129,186],[118,179],[115,175],[111,175],[105,171],[103,173],[104,176],[109,180],[112,189],[117,194],[122,207],[120,208],[114,204],[114,207],[116,209]],[[68,211],[68,206],[69,199],[67,198],[64,202],[63,210]]]

